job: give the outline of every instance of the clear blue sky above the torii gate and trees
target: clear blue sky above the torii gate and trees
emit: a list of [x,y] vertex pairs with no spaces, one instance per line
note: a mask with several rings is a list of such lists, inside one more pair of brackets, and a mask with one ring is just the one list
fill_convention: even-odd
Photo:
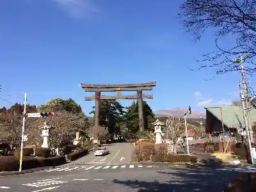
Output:
[[[79,83],[157,81],[148,104],[204,111],[237,98],[237,72],[192,72],[194,58],[215,50],[211,31],[195,44],[175,19],[182,1],[2,0],[0,2],[0,106],[71,97],[83,111],[93,101]],[[223,42],[226,43],[226,42]],[[113,95],[115,93],[110,93]],[[18,96],[17,96],[18,95]],[[108,94],[106,94],[108,95]],[[128,106],[131,100],[123,100]]]

